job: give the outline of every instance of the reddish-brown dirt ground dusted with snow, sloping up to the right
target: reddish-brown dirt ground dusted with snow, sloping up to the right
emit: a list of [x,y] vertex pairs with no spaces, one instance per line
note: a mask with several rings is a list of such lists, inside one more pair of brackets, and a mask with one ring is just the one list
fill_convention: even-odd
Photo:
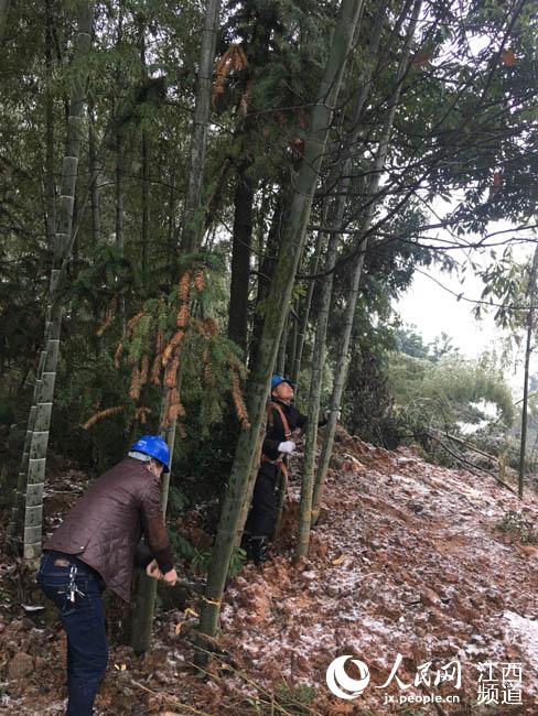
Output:
[[[226,670],[217,661],[211,680],[195,677],[189,663],[195,615],[161,612],[144,659],[112,648],[99,713],[270,714],[262,702],[272,693],[279,694],[275,714],[538,714],[538,547],[498,530],[507,512],[521,509],[538,525],[536,495],[521,506],[487,476],[344,434],[336,452],[352,469],[330,473],[310,558],[291,565],[284,549],[230,583],[222,617]],[[292,492],[297,501],[297,485]],[[62,713],[60,631],[41,617],[21,618],[17,604],[1,606],[0,710]],[[198,609],[195,600],[191,608]],[[21,653],[33,672],[8,681],[17,660],[25,669]],[[341,655],[369,669],[369,684],[351,701],[332,695],[325,683],[329,664]],[[397,659],[400,683],[394,677],[385,686]],[[358,679],[353,664],[346,672]],[[477,706],[486,686],[489,704]],[[460,702],[394,703],[410,694]]]

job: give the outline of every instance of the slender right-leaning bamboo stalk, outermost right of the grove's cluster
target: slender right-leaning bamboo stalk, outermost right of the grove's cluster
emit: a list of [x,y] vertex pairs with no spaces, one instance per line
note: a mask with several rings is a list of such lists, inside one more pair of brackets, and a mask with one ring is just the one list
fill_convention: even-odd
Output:
[[[379,145],[377,148],[376,159],[374,161],[373,176],[370,180],[370,185],[368,191],[368,194],[372,198],[368,203],[368,208],[366,210],[365,221],[363,226],[364,234],[366,234],[369,229],[372,219],[374,217],[375,208],[377,206],[377,202],[379,200],[379,197],[377,197],[376,200],[376,195],[378,193],[381,172],[384,170],[385,161],[387,159],[387,152],[388,152],[390,134],[392,130],[396,107],[398,105],[400,94],[401,94],[401,84],[408,68],[411,42],[415,34],[415,29],[417,26],[417,19],[420,12],[421,4],[422,4],[421,0],[417,0],[413,7],[411,21],[409,23],[409,29],[407,32],[406,44],[398,65],[396,88],[390,105],[387,109],[387,115],[384,121],[381,135],[379,139]],[[340,217],[340,224],[336,224],[334,227],[336,230],[342,229],[342,218],[343,218],[343,213],[342,216]],[[314,485],[314,490],[312,496],[311,521],[314,523],[318,520],[318,516],[320,513],[320,503],[323,493],[323,486],[329,469],[329,462],[331,459],[331,453],[334,444],[334,435],[336,433],[338,410],[342,402],[342,394],[344,392],[345,380],[347,377],[349,339],[352,335],[353,321],[355,316],[355,307],[357,302],[357,293],[358,293],[358,286],[361,282],[361,275],[363,271],[364,257],[366,252],[366,245],[367,245],[367,240],[361,239],[358,243],[357,257],[354,262],[354,268],[351,278],[351,286],[347,296],[344,323],[342,328],[342,338],[338,341],[340,351],[338,351],[338,359],[337,359],[336,369],[334,373],[333,393],[331,397],[331,414],[329,417],[329,423],[325,427],[323,449],[318,466],[315,485]]]

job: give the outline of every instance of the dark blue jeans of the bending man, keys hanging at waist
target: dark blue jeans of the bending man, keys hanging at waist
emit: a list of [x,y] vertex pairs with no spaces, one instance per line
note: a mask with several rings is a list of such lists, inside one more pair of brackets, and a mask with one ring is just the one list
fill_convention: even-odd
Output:
[[[75,592],[74,601],[69,599],[72,578],[80,593]],[[108,661],[103,579],[95,569],[73,555],[44,552],[37,583],[58,608],[67,633],[69,702],[66,714],[92,716]]]

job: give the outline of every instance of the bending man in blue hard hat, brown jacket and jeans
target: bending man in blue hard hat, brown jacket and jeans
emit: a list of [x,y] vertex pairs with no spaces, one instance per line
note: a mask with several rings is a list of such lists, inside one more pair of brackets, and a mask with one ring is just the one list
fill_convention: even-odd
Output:
[[101,594],[107,586],[130,601],[142,534],[150,556],[140,566],[169,585],[177,579],[160,507],[166,443],[144,435],[128,455],[95,480],[44,544],[37,582],[67,633],[67,716],[93,714],[108,661]]

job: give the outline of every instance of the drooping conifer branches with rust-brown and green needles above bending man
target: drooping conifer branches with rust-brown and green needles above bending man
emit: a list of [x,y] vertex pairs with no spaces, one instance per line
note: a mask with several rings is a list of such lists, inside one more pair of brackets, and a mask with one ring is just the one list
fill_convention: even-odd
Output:
[[[85,422],[86,430],[123,412],[130,421],[140,426],[149,424],[155,432],[176,423],[184,436],[187,413],[182,395],[192,395],[195,390],[201,397],[200,419],[207,431],[222,420],[229,397],[237,419],[248,427],[241,387],[246,368],[240,350],[208,315],[215,272],[201,262],[193,264],[168,296],[147,301],[128,319],[115,350],[116,369],[128,372],[125,404],[97,411]],[[158,388],[165,389],[160,409]]]

